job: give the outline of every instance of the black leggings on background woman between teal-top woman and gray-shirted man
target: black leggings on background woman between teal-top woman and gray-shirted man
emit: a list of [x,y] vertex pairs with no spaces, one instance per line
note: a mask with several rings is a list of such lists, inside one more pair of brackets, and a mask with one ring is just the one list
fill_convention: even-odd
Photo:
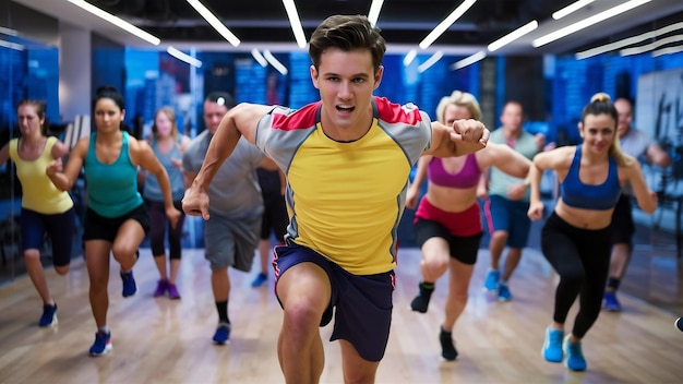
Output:
[[149,221],[152,221],[152,230],[149,231],[149,242],[152,243],[152,255],[161,256],[166,254],[166,247],[164,244],[164,235],[168,227],[168,256],[171,260],[180,259],[182,239],[182,225],[185,219],[185,215],[182,212],[182,205],[180,201],[175,201],[173,205],[181,212],[180,218],[176,228],[170,227],[170,221],[166,217],[166,208],[164,202],[155,202],[147,200],[147,209],[149,211]]

